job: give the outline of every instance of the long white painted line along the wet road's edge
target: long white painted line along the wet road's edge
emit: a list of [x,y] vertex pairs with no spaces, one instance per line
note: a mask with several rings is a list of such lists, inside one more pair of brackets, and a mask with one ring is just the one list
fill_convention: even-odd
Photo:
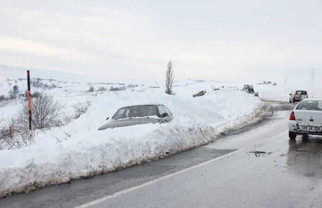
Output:
[[[282,133],[280,133],[280,134],[282,134]],[[245,148],[241,148],[241,149],[235,150],[235,151],[233,151],[233,152],[230,152],[230,153],[228,153],[228,154],[222,155],[222,156],[220,156],[220,157],[216,157],[216,158],[213,158],[213,159],[211,159],[211,160],[207,160],[207,161],[205,161],[205,162],[203,162],[203,163],[199,163],[199,164],[197,164],[197,165],[191,166],[191,167],[189,167],[189,168],[182,169],[182,170],[179,170],[179,171],[177,171],[177,172],[170,173],[170,174],[168,174],[168,175],[165,175],[165,176],[162,176],[162,177],[159,177],[159,178],[155,178],[155,179],[150,180],[150,181],[147,181],[147,182],[145,182],[145,183],[142,183],[142,184],[139,184],[139,185],[136,185],[136,186],[130,187],[130,188],[126,188],[126,189],[120,190],[120,191],[118,191],[118,192],[112,193],[111,195],[107,195],[107,196],[104,196],[104,197],[101,197],[101,198],[95,199],[95,200],[93,200],[93,201],[89,201],[89,202],[87,202],[87,203],[81,204],[81,205],[79,205],[79,206],[75,206],[74,208],[85,208],[85,207],[93,206],[93,205],[95,205],[95,204],[98,204],[98,203],[100,203],[100,202],[102,202],[102,201],[105,201],[105,200],[108,200],[108,199],[110,199],[110,198],[114,198],[114,197],[119,196],[119,195],[122,195],[122,194],[124,194],[124,193],[128,193],[128,192],[134,191],[134,190],[136,190],[136,189],[139,189],[139,188],[142,188],[142,187],[145,187],[145,186],[151,185],[151,184],[156,183],[156,182],[158,182],[158,181],[162,181],[162,180],[165,180],[165,179],[167,179],[167,178],[170,178],[170,177],[173,177],[173,176],[179,175],[179,174],[181,174],[181,173],[187,172],[187,171],[189,171],[189,170],[193,170],[193,169],[195,169],[195,168],[198,168],[198,167],[201,167],[201,166],[203,166],[203,165],[209,164],[209,163],[214,162],[214,161],[216,161],[216,160],[220,160],[220,159],[222,159],[222,158],[224,158],[224,157],[227,157],[227,156],[233,155],[233,154],[235,154],[235,153],[238,153],[238,152],[244,151],[244,150],[246,150],[246,149],[251,148],[252,146],[255,146],[255,145],[258,145],[258,144],[261,144],[261,143],[264,143],[264,142],[270,141],[270,140],[271,140],[271,139],[266,139],[266,140],[263,140],[263,141],[260,141],[260,142],[254,143],[254,144],[252,144],[252,145],[250,145],[250,146],[248,146],[248,147],[245,147]]]

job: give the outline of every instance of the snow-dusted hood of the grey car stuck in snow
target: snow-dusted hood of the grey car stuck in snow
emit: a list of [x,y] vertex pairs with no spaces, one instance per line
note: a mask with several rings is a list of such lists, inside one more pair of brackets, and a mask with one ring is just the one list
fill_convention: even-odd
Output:
[[157,123],[160,119],[155,118],[130,118],[130,119],[122,119],[122,120],[112,120],[107,124],[102,125],[98,130],[104,130],[108,128],[116,128],[116,127],[127,127],[134,126],[139,124],[154,124]]

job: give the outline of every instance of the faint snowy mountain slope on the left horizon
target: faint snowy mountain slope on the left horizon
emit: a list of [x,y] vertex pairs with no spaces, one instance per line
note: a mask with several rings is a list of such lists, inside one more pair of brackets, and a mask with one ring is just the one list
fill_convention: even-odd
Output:
[[67,79],[82,79],[86,76],[54,71],[54,70],[46,70],[46,69],[32,69],[32,68],[23,68],[16,66],[7,66],[0,64],[0,77],[10,78],[10,77],[26,77],[27,70],[30,70],[30,74],[32,77],[52,77],[52,78],[67,78]]

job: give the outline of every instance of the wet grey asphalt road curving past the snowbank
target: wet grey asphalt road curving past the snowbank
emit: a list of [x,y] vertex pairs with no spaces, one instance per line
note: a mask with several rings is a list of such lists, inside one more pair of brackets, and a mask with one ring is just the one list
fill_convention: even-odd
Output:
[[0,207],[322,207],[322,137],[289,141],[294,107],[214,143],[0,199]]

